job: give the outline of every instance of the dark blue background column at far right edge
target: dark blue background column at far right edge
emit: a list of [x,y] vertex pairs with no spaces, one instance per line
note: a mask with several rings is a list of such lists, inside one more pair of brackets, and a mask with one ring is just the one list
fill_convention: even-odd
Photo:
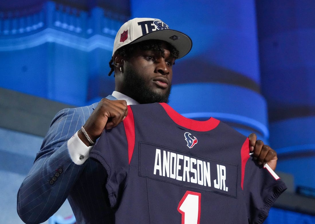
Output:
[[262,92],[278,170],[315,188],[314,1],[256,1]]

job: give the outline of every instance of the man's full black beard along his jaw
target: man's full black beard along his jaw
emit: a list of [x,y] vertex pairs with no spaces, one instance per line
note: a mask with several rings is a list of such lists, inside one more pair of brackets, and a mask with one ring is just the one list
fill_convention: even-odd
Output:
[[166,93],[162,95],[155,93],[146,85],[144,78],[128,66],[124,71],[123,89],[129,90],[132,93],[130,97],[140,104],[168,103],[171,83]]

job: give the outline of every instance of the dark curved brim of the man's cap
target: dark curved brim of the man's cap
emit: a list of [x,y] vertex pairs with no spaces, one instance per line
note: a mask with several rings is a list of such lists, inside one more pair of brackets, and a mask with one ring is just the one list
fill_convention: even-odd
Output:
[[[171,39],[171,37],[177,36]],[[183,34],[173,29],[161,29],[156,30],[146,35],[139,37],[138,39],[130,42],[129,44],[139,43],[144,40],[164,40],[174,46],[179,51],[178,58],[184,57],[192,49],[192,40],[186,34]]]

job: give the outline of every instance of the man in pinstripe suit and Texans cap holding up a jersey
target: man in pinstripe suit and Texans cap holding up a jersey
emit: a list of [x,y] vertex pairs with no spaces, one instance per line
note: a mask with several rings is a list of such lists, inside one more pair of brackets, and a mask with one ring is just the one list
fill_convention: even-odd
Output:
[[[159,19],[136,18],[119,29],[111,72],[115,91],[99,103],[61,110],[17,198],[17,211],[26,223],[47,220],[68,198],[77,223],[111,223],[104,187],[104,168],[89,159],[89,152],[105,129],[117,126],[127,116],[128,104],[167,102],[175,59],[191,49],[190,38],[171,30]],[[251,151],[259,163],[275,169],[277,154],[256,135],[249,136]]]

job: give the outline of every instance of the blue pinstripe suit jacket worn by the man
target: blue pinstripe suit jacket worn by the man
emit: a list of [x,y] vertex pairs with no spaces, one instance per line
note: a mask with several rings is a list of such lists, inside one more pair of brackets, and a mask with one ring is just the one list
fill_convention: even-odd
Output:
[[[111,95],[106,98],[116,99]],[[103,187],[103,166],[92,159],[77,165],[67,148],[67,141],[84,125],[97,104],[63,109],[55,115],[17,195],[17,211],[25,223],[46,221],[66,198],[78,224],[112,223],[114,212],[108,207]]]

